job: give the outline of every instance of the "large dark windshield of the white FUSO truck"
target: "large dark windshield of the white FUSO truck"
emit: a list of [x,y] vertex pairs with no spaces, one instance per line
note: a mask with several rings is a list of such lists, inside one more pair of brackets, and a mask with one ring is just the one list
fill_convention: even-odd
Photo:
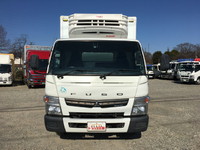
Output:
[[59,41],[55,44],[48,74],[145,75],[138,42]]

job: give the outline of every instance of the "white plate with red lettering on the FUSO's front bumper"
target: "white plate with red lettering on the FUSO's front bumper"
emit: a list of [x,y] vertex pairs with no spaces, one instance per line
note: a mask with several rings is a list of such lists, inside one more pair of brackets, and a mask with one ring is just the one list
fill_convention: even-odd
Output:
[[87,123],[87,130],[88,131],[95,131],[95,132],[106,131],[106,123],[105,122],[88,122]]

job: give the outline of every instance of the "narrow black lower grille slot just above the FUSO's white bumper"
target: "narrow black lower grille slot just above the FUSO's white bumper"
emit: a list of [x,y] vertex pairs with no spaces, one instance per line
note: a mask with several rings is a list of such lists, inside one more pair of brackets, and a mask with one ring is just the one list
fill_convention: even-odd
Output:
[[70,118],[123,118],[124,113],[69,113]]

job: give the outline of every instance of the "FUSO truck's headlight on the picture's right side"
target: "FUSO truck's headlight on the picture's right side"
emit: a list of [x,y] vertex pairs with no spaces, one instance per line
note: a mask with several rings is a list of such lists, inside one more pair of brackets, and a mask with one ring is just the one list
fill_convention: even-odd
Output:
[[132,109],[132,115],[145,115],[148,111],[149,97],[136,97]]

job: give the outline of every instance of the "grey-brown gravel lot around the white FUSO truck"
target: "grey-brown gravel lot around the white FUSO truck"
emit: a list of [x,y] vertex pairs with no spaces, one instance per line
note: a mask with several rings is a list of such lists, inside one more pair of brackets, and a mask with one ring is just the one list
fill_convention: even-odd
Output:
[[44,126],[44,88],[0,87],[1,150],[198,150],[200,85],[149,80],[149,128],[141,136],[58,136]]

